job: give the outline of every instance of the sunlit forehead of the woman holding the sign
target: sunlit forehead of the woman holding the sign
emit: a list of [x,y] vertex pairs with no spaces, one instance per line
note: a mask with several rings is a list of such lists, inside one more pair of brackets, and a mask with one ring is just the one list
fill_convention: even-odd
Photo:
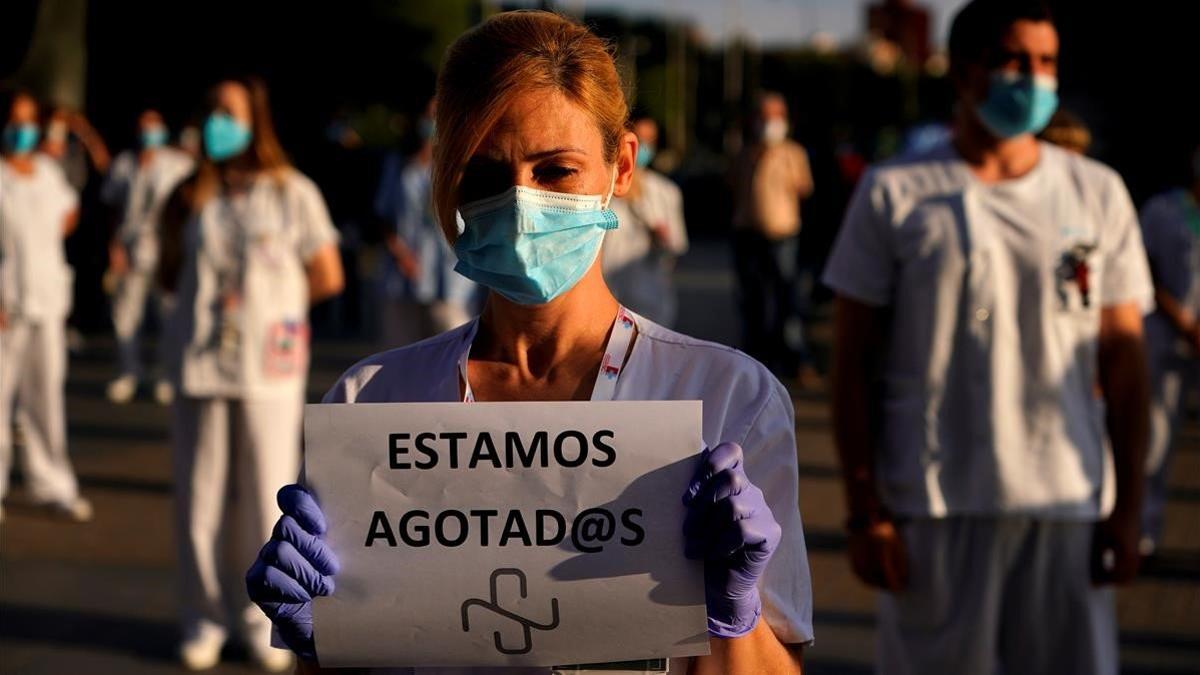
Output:
[[595,120],[558,91],[528,91],[516,96],[480,142],[476,156],[527,159],[552,150],[602,155],[604,139]]

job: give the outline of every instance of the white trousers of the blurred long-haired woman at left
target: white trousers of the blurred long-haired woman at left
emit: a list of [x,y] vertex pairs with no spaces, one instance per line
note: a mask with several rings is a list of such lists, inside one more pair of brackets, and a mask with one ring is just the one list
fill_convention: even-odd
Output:
[[300,471],[300,396],[178,396],[172,425],[184,639],[235,631],[268,645],[270,622],[246,597],[245,574],[270,538],[275,495]]

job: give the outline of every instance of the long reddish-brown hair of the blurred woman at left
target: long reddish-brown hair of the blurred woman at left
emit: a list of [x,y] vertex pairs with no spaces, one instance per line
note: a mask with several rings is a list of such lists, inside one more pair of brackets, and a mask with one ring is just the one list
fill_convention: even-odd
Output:
[[[275,135],[275,124],[271,121],[271,104],[266,95],[266,84],[257,77],[227,78],[218,82],[209,90],[209,108],[216,107],[217,90],[226,84],[239,84],[250,95],[250,117],[252,137],[250,147],[236,162],[241,168],[254,173],[268,174],[271,178],[282,180],[292,169],[283,147],[280,145],[278,136]],[[192,208],[199,208],[217,192],[220,185],[220,169],[216,163],[203,156],[199,168],[196,172],[196,191],[193,193]]]

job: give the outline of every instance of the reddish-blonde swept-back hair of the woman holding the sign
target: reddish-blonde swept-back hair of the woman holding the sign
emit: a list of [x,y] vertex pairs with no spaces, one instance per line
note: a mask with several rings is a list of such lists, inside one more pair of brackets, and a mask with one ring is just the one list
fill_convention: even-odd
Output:
[[446,49],[438,76],[433,143],[433,208],[442,231],[457,237],[455,211],[463,169],[512,101],[557,91],[587,110],[617,160],[629,108],[610,46],[583,25],[551,12],[496,14]]

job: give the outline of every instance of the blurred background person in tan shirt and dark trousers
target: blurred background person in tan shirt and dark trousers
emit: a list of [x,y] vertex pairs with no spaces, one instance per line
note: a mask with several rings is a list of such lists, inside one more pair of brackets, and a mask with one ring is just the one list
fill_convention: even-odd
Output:
[[746,352],[818,387],[798,306],[800,201],[812,195],[804,147],[788,138],[787,101],[760,96],[755,139],[734,160],[733,255]]

